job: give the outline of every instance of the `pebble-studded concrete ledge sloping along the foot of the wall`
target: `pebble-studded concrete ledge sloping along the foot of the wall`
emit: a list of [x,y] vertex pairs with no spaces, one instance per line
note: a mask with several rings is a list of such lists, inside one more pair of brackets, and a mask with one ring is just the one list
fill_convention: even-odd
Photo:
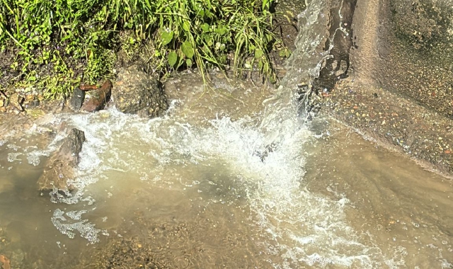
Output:
[[453,173],[453,120],[440,113],[351,79],[340,81],[321,102],[321,115],[330,115],[429,169]]

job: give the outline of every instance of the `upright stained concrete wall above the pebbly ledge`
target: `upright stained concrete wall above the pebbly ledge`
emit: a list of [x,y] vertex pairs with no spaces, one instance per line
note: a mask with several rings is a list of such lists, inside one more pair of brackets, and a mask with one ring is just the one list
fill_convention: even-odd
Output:
[[357,0],[351,69],[453,117],[453,1]]

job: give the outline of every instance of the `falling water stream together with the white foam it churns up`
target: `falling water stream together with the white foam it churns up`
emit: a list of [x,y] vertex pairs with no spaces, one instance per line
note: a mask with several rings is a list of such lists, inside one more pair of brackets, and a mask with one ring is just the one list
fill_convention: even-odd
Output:
[[[256,244],[263,246],[269,256],[277,257],[272,261],[275,268],[394,267],[398,261],[385,257],[372,239],[364,240],[348,226],[344,214],[348,199],[329,200],[304,188],[304,143],[312,134],[303,125],[305,115],[299,113],[303,102],[299,102],[296,89],[299,84],[311,84],[319,75],[321,62],[328,57],[328,52],[319,50],[326,38],[327,11],[327,1],[312,1],[299,14],[297,49],[288,60],[287,76],[273,96],[264,101],[259,125],[249,116],[189,124],[181,113],[183,101],[174,101],[180,106],[153,120],[124,115],[115,108],[93,114],[55,115],[50,122],[66,122],[68,128],[84,131],[86,142],[76,178],[71,182],[76,193],[51,193],[52,202],[61,205],[53,212],[52,224],[69,238],[79,234],[94,243],[107,233],[102,227],[96,228],[93,219],[82,216],[101,203],[91,193],[98,181],[114,184],[119,180],[112,172],[127,176],[131,182],[148,181],[154,187],[166,184],[193,188],[200,185],[199,178],[176,178],[166,171],[220,163],[231,171],[229,177],[236,190],[229,191],[245,194],[252,212],[251,223],[263,233]],[[199,119],[203,111],[191,113]],[[61,139],[56,137],[47,151],[55,150]],[[36,153],[29,161],[37,162]],[[110,197],[115,199],[111,193]],[[84,210],[68,211],[74,204],[83,205]]]

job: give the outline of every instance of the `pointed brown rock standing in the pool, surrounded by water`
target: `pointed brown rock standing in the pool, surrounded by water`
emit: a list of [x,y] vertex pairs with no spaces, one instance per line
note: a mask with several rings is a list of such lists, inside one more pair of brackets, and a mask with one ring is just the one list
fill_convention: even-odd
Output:
[[45,170],[38,179],[39,190],[73,190],[67,181],[74,179],[74,167],[79,164],[79,154],[85,142],[85,133],[72,129],[64,139],[59,151],[47,161]]

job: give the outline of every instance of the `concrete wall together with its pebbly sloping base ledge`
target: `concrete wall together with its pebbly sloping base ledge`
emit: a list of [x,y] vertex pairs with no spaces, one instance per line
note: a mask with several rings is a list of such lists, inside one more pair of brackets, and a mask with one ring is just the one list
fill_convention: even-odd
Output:
[[321,115],[445,175],[453,172],[448,2],[357,0],[347,76],[328,70],[327,60],[314,83]]

